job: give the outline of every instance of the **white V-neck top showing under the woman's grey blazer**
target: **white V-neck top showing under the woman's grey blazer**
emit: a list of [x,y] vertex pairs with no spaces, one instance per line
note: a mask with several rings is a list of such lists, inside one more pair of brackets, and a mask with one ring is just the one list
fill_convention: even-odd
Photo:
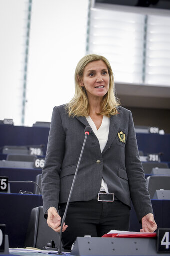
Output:
[[[95,133],[96,137],[99,140],[100,150],[102,152],[108,140],[110,119],[109,117],[103,116],[101,126],[99,127],[98,130],[90,116],[86,117],[86,119],[89,125],[91,126],[93,132]],[[103,178],[102,178],[100,191],[106,191],[106,193],[108,193],[108,187]]]

